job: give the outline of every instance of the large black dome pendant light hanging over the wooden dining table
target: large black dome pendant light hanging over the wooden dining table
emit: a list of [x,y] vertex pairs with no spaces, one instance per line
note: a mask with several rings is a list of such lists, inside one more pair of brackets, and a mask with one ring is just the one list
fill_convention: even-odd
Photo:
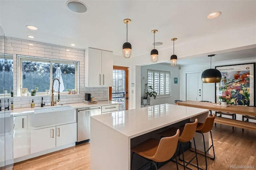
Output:
[[210,69],[204,70],[202,73],[202,81],[203,83],[219,83],[221,80],[221,73],[217,69],[212,69],[212,56],[213,55],[208,55],[208,57],[211,57],[211,64],[210,64]]

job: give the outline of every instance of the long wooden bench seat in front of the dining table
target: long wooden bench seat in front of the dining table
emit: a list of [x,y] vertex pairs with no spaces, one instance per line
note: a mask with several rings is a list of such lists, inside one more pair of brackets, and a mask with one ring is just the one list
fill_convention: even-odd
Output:
[[214,123],[256,131],[256,123],[253,122],[237,121],[234,119],[228,119],[224,117],[215,117]]

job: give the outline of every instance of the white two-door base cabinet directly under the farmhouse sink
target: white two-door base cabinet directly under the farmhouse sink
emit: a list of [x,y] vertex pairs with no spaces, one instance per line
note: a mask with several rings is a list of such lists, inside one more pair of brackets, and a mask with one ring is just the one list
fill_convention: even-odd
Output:
[[30,131],[30,153],[76,142],[76,123]]

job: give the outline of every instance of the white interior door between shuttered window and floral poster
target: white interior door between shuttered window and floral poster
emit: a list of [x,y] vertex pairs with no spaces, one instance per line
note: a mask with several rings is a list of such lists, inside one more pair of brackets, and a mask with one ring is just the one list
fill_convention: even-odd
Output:
[[186,100],[202,101],[201,72],[186,73]]

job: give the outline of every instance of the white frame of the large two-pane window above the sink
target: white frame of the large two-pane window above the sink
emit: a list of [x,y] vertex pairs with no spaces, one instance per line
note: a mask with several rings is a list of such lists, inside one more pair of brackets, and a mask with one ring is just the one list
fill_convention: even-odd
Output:
[[[17,96],[21,96],[20,88],[22,88],[22,60],[29,60],[29,61],[36,61],[36,62],[49,62],[50,63],[50,90],[52,88],[52,63],[61,63],[61,64],[74,64],[75,65],[75,91],[79,93],[78,90],[78,82],[79,79],[79,61],[72,61],[72,60],[63,60],[63,59],[51,59],[45,57],[34,57],[28,55],[19,55],[17,54]],[[58,93],[58,92],[54,92]],[[47,94],[46,92],[37,92],[38,95],[51,95],[51,92]],[[60,94],[68,94],[68,91],[60,92]]]

